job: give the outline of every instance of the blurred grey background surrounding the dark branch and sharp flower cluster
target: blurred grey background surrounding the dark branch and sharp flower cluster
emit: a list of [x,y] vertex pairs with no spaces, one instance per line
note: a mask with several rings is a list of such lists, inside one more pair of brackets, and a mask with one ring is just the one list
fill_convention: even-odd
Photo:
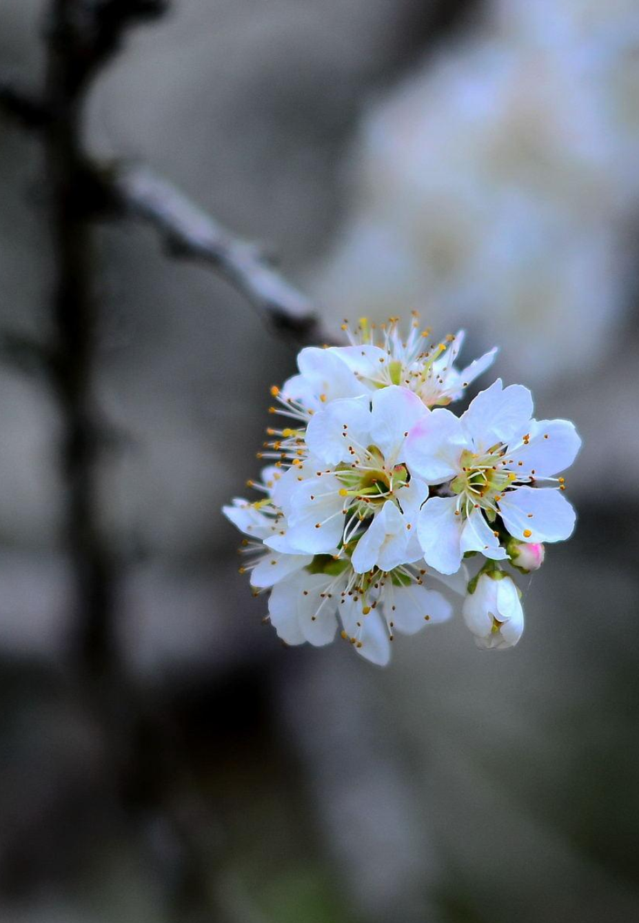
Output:
[[[0,4],[0,64],[32,86],[44,6]],[[175,0],[130,32],[87,147],[277,253],[331,328],[417,308],[468,360],[498,344],[584,438],[579,523],[512,651],[459,617],[386,670],[284,649],[220,507],[295,350],[151,230],[102,225],[100,519],[153,735],[123,787],[130,715],[105,730],[66,669],[56,403],[0,366],[3,921],[639,918],[638,101],[632,0]],[[1,115],[0,184],[2,330],[39,338],[42,150]]]

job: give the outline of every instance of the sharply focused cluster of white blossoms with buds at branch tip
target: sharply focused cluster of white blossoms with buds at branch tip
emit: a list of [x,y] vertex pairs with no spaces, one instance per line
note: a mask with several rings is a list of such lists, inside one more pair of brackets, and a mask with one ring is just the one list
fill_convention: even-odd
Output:
[[[581,444],[567,420],[535,420],[530,391],[498,378],[461,416],[447,405],[493,361],[458,369],[463,333],[430,342],[413,320],[376,328],[366,318],[350,346],[309,347],[299,374],[273,387],[288,426],[269,428],[262,496],[223,508],[247,535],[242,551],[256,593],[287,644],[342,637],[388,663],[396,632],[452,615],[433,585],[466,594],[464,619],[479,647],[515,644],[520,593],[501,568],[527,572],[544,542],[573,532],[557,475]],[[469,580],[464,558],[478,563]]]

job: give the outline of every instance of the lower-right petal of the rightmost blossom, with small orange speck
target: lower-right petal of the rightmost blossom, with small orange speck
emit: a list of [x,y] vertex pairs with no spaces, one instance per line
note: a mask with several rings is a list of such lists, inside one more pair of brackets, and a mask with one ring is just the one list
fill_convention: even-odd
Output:
[[575,513],[561,491],[552,487],[517,487],[499,502],[501,519],[521,542],[562,542],[573,533]]

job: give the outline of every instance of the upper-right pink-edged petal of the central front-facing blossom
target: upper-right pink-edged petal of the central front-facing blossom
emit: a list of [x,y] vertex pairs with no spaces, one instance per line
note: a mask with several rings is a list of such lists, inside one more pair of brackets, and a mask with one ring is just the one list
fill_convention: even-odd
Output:
[[404,462],[404,443],[410,430],[428,414],[413,391],[391,385],[371,398],[370,438],[387,464]]

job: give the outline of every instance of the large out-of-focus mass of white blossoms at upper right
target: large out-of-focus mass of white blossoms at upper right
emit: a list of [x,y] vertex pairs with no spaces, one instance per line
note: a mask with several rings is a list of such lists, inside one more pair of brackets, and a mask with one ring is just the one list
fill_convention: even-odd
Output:
[[638,153],[639,6],[498,0],[368,111],[316,292],[334,317],[454,318],[512,378],[569,375],[629,297]]

